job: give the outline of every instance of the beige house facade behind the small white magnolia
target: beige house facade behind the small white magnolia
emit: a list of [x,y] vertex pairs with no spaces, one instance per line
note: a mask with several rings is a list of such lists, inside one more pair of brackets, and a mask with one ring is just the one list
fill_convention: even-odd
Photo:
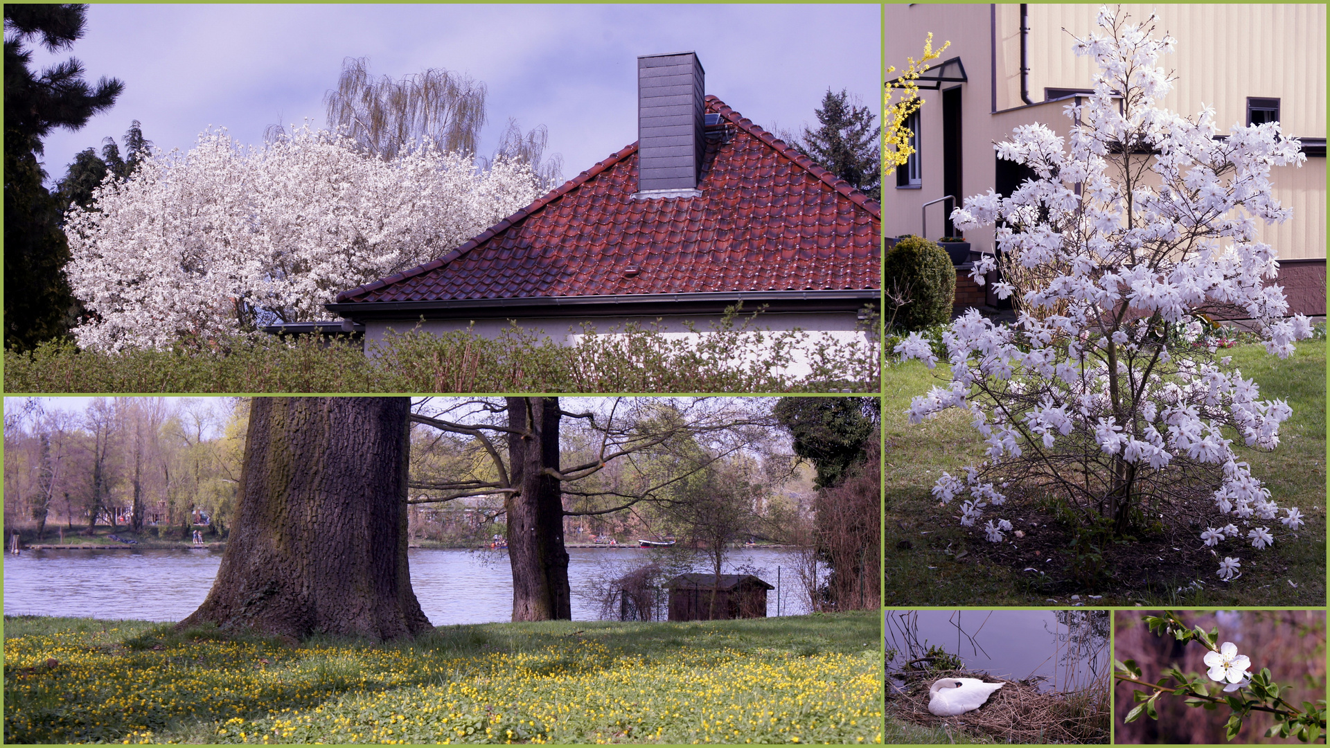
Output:
[[[1326,298],[1326,7],[1313,4],[1121,5],[1133,20],[1153,12],[1177,40],[1162,60],[1176,81],[1164,105],[1182,114],[1213,106],[1221,133],[1233,124],[1278,120],[1302,140],[1307,161],[1277,166],[1275,197],[1293,209],[1266,226],[1293,311],[1325,314]],[[1097,29],[1099,4],[899,4],[884,13],[884,65],[906,68],[932,32],[951,47],[920,81],[916,160],[882,186],[883,236],[952,234],[952,196],[1019,184],[994,142],[1040,122],[1065,134],[1063,108],[1092,89],[1092,61],[1072,53],[1072,37]],[[932,79],[932,80],[930,80]],[[990,230],[970,232],[972,249],[994,250]]]

